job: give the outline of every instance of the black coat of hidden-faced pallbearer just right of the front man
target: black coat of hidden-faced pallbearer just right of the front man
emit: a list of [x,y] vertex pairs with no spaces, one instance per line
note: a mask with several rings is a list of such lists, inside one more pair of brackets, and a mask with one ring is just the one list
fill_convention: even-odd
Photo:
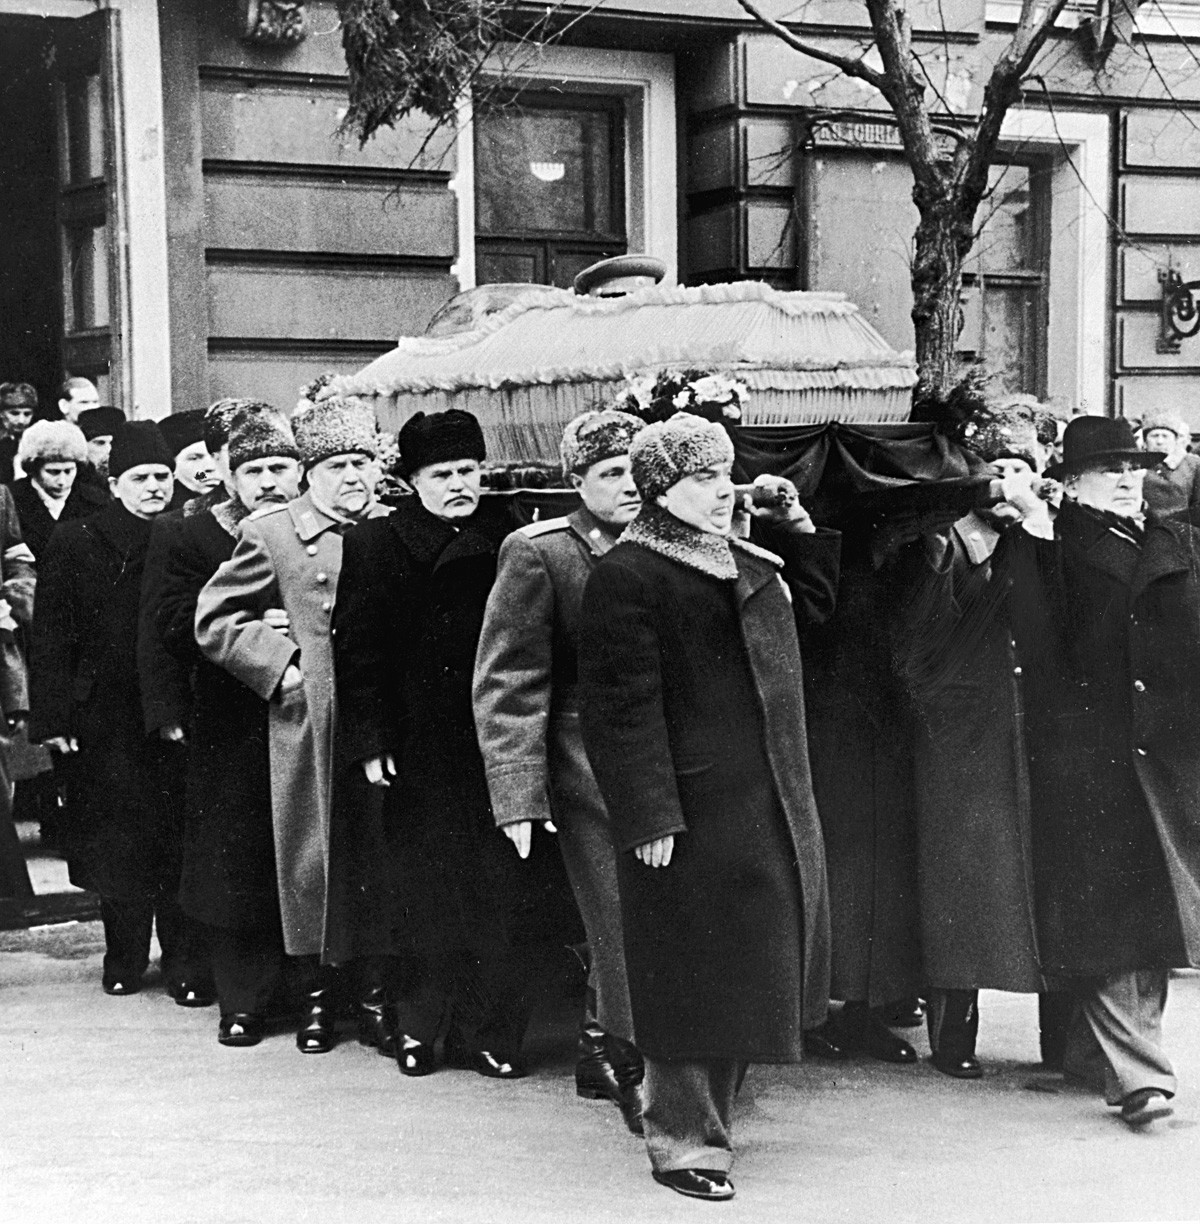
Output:
[[807,633],[804,694],[813,789],[825,837],[834,999],[894,1002],[921,984],[912,718],[890,625],[891,565],[847,535],[838,614]]

